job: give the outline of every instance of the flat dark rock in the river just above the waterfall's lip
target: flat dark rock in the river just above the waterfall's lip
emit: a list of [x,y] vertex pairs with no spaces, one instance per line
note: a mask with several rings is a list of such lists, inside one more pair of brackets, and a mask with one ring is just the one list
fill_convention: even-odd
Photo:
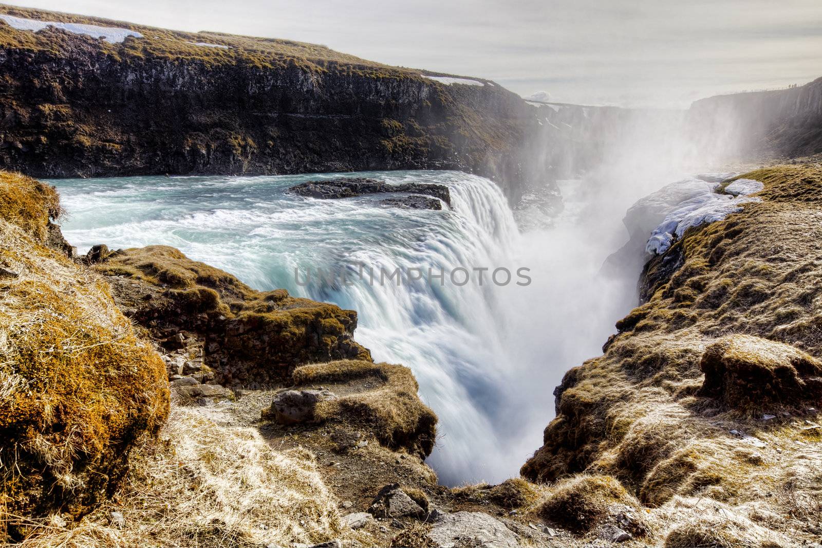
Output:
[[394,207],[410,207],[413,209],[442,209],[442,206],[433,207],[431,201],[424,201],[424,196],[430,196],[446,202],[449,206],[451,205],[451,194],[448,187],[444,184],[388,184],[379,179],[367,179],[363,177],[343,177],[325,181],[307,181],[306,183],[300,183],[289,188],[289,192],[300,196],[325,200],[358,197],[367,194],[415,193],[422,194],[423,196],[390,198],[384,200],[382,203]]

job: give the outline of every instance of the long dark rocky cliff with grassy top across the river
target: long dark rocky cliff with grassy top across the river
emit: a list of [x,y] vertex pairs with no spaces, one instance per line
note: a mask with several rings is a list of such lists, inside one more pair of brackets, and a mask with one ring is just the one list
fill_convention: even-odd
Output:
[[[33,176],[455,169],[515,199],[542,176],[519,96],[485,80],[372,63],[324,46],[127,30],[120,42],[0,22],[0,167]],[[10,20],[12,21],[12,20]],[[139,35],[139,37],[135,36]]]

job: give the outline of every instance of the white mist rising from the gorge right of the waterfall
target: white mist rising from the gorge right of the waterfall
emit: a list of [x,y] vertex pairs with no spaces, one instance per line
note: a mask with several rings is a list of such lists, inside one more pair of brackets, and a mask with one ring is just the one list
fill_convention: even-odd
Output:
[[[545,200],[556,200],[558,193],[561,211],[541,226],[520,223],[510,253],[513,263],[530,268],[533,283],[506,287],[499,296],[497,326],[506,355],[500,367],[510,386],[494,420],[505,450],[500,462],[487,460],[487,477],[477,479],[517,475],[555,416],[554,387],[568,370],[601,355],[616,332],[614,323],[639,304],[637,286],[649,258],[644,246],[655,225],[631,238],[626,211],[668,183],[727,171],[729,158],[740,150],[739,133],[728,129],[721,139],[715,133],[707,138],[698,131],[703,122],[687,111],[599,114],[578,118],[587,126],[575,130],[568,149],[551,126],[545,126],[548,137],[532,143],[534,158],[543,156],[538,161],[547,165],[544,186],[533,193]],[[731,127],[731,120],[723,126]]]

